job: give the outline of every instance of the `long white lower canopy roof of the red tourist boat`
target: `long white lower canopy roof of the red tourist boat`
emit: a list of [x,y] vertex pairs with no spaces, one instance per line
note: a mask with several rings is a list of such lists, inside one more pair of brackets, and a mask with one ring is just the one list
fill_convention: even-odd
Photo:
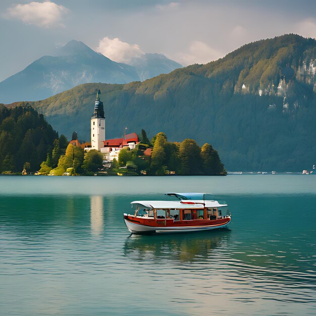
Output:
[[203,200],[180,200],[180,201],[133,201],[131,204],[136,207],[144,207],[148,209],[197,209],[205,207],[223,207],[227,204],[220,204],[218,201]]

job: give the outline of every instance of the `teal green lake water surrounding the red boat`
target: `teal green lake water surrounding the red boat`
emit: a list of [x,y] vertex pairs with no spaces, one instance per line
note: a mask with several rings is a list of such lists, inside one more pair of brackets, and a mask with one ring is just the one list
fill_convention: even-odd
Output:
[[[0,177],[3,315],[313,315],[316,177]],[[131,236],[168,191],[226,200],[229,229]]]

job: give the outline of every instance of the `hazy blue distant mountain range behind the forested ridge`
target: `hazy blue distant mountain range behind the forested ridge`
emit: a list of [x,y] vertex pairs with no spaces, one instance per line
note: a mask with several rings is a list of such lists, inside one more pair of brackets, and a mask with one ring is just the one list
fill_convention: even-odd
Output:
[[0,82],[0,102],[39,100],[88,82],[139,81],[182,67],[160,54],[145,54],[135,66],[116,63],[75,40],[51,55]]

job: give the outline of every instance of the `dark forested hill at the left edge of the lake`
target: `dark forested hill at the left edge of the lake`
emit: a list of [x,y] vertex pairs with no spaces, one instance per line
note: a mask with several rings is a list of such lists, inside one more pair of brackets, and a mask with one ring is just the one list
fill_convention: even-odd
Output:
[[57,132],[30,107],[0,104],[0,171],[36,171],[58,138]]

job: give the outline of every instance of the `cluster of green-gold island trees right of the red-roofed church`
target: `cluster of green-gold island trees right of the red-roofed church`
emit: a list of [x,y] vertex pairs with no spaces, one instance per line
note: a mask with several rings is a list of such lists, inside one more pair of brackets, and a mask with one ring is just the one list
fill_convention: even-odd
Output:
[[[212,145],[205,143],[200,147],[194,139],[184,139],[181,143],[168,141],[163,132],[149,141],[142,130],[141,142],[134,149],[123,148],[118,163],[114,162],[115,173],[147,175],[213,175],[225,176],[226,170],[219,154]],[[151,155],[144,153],[151,149]],[[126,170],[122,170],[126,167]]]

